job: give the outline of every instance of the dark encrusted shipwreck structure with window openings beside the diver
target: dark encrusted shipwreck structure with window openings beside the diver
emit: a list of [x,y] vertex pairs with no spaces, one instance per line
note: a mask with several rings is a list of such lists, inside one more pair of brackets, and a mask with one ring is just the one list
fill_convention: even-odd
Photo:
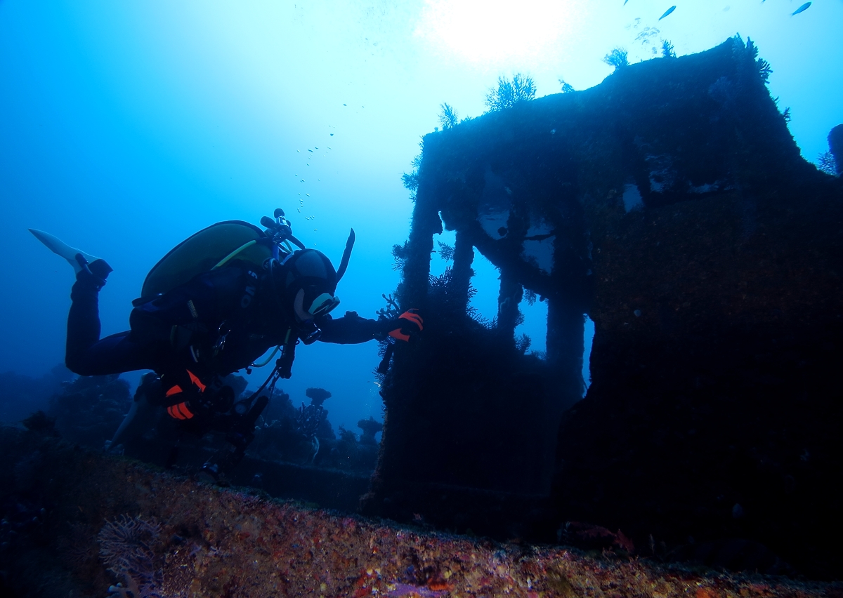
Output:
[[[398,296],[425,331],[384,381],[364,512],[550,542],[589,521],[653,552],[745,538],[834,569],[843,184],[800,156],[767,69],[736,38],[424,137]],[[491,325],[475,252],[500,270]],[[525,294],[543,358],[513,337]]]

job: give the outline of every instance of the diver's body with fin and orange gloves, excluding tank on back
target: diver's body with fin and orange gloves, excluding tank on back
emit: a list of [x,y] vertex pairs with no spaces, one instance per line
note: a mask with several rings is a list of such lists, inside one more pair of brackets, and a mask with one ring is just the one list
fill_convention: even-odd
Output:
[[[274,384],[279,377],[290,377],[298,342],[352,344],[387,335],[406,341],[422,328],[416,310],[385,320],[361,318],[356,312],[331,318],[330,311],[339,303],[336,270],[325,254],[300,248],[276,252],[277,258],[266,259],[260,266],[232,259],[164,294],[137,300],[129,320],[131,330],[99,339],[99,290],[105,286],[110,266],[44,232],[33,234],[77,270],[67,318],[68,369],[81,376],[155,372],[144,376],[112,446],[126,436],[137,409],[144,408],[139,403],[146,402],[163,405],[185,430],[227,432],[235,451],[224,466],[233,467],[251,440],[266,398],[255,401],[259,391],[248,403],[235,405],[224,376],[250,368],[260,355],[277,346],[282,356],[270,376]],[[347,255],[343,262],[341,270]],[[218,465],[206,464],[206,468],[217,473]]]

